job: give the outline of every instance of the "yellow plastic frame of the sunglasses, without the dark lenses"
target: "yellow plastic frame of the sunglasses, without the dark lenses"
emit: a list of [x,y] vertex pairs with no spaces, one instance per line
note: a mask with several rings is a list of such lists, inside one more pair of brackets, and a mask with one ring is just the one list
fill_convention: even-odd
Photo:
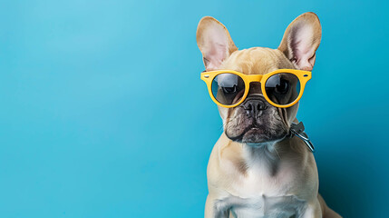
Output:
[[[212,94],[212,81],[213,79],[219,75],[219,74],[236,74],[238,75],[243,82],[245,83],[245,93],[243,94],[243,97],[239,100],[237,104],[232,104],[232,105],[226,105],[226,104],[221,104],[216,100],[215,96]],[[267,96],[266,89],[265,89],[265,84],[267,82],[267,79],[274,75],[274,74],[294,74],[297,76],[298,80],[300,81],[300,93],[298,94],[297,98],[295,101],[293,101],[290,104],[276,104],[273,103]],[[217,70],[217,71],[206,71],[201,73],[200,78],[203,80],[207,86],[208,86],[208,91],[210,98],[218,104],[219,106],[226,107],[226,108],[231,108],[231,107],[236,107],[239,104],[242,104],[243,101],[245,101],[246,97],[248,96],[248,90],[250,88],[250,84],[252,82],[259,82],[261,86],[261,91],[265,99],[269,104],[272,104],[273,106],[280,107],[280,108],[286,108],[293,106],[294,104],[297,104],[297,102],[300,100],[301,96],[304,93],[304,88],[306,87],[306,82],[310,80],[312,77],[312,74],[310,71],[303,71],[303,70],[294,70],[294,69],[278,69],[276,71],[267,73],[267,74],[242,74],[238,71],[234,70]]]

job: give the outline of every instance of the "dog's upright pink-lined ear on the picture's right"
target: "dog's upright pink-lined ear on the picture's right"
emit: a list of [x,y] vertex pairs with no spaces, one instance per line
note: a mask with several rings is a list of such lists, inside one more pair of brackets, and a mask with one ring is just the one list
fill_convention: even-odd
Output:
[[312,71],[316,49],[320,45],[322,28],[315,13],[307,12],[287,26],[278,50],[300,70]]

